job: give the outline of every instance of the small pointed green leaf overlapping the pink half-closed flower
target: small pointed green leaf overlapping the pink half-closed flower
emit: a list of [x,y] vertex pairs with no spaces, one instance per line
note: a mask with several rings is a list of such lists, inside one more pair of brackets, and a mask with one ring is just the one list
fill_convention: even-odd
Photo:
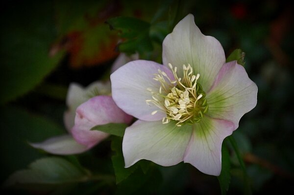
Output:
[[91,130],[99,130],[111,135],[123,137],[125,128],[127,128],[125,123],[108,123],[106,125],[97,125]]

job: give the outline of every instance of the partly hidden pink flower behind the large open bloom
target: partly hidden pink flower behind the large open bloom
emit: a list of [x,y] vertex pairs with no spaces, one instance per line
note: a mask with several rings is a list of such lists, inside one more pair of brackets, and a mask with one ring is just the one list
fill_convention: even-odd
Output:
[[[121,54],[112,66],[112,71],[138,56]],[[107,123],[130,123],[133,117],[116,106],[111,97],[110,82],[94,82],[84,88],[72,83],[69,87],[64,113],[64,124],[69,134],[49,138],[41,143],[30,143],[37,149],[53,154],[85,152],[108,137],[108,133],[91,130],[96,125]]]

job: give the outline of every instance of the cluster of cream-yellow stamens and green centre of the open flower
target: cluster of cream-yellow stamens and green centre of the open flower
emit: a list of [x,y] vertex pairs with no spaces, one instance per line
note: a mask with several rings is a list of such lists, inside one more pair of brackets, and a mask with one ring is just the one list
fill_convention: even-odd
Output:
[[206,101],[206,94],[197,80],[199,74],[193,74],[191,65],[183,65],[183,78],[179,78],[176,74],[176,67],[169,64],[175,80],[171,80],[169,76],[158,69],[158,74],[154,74],[155,81],[160,82],[161,87],[158,92],[152,91],[147,88],[152,94],[152,99],[146,100],[147,104],[152,103],[160,110],[167,114],[162,119],[164,124],[169,123],[171,120],[177,121],[176,126],[180,127],[183,124],[198,123],[203,114],[208,111]]

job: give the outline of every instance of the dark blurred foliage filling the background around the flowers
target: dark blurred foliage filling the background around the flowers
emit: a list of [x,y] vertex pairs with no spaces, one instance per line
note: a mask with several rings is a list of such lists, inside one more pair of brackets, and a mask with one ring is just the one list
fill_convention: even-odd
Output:
[[[281,194],[292,189],[294,28],[288,1],[5,1],[0,10],[0,181],[7,185],[12,173],[34,175],[39,168],[40,178],[48,179],[27,178],[33,185],[2,188],[4,193]],[[164,37],[188,13],[205,35],[221,42],[227,57],[236,48],[245,52],[246,71],[259,89],[257,107],[242,118],[233,141],[224,142],[223,156],[230,156],[223,163],[226,173],[217,178],[189,164],[160,167],[149,161],[121,169],[122,139],[115,136],[74,156],[29,147],[27,141],[66,132],[63,112],[71,82],[87,86],[107,79],[119,52],[138,52],[141,59],[161,63]]]

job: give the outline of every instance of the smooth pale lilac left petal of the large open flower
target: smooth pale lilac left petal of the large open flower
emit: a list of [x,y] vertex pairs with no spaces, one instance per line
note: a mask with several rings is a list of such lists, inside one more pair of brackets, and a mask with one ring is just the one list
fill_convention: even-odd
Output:
[[[166,116],[166,113],[151,112],[159,108],[153,104],[147,105],[146,100],[152,99],[147,88],[159,91],[160,82],[153,80],[158,69],[174,79],[172,71],[155,62],[136,60],[120,67],[110,75],[112,97],[115,103],[126,113],[144,121],[157,121]],[[164,102],[164,99],[162,98]]]

